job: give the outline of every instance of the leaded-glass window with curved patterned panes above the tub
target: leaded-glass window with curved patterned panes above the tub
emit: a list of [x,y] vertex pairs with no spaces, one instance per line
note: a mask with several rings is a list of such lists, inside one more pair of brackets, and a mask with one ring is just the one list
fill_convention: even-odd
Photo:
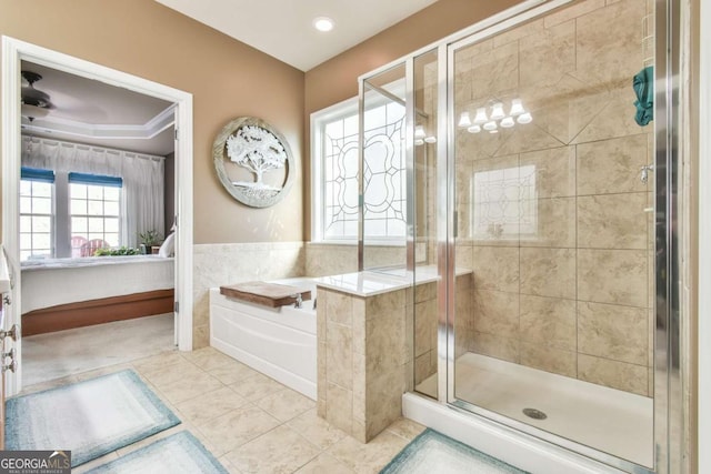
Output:
[[[399,103],[371,108],[363,117],[363,219],[367,236],[405,235],[404,114]],[[358,110],[317,122],[321,132],[320,212],[322,240],[358,239]],[[318,147],[318,144],[317,144]],[[319,199],[320,198],[320,199]],[[319,206],[320,202],[320,206]],[[319,232],[320,231],[320,232]]]

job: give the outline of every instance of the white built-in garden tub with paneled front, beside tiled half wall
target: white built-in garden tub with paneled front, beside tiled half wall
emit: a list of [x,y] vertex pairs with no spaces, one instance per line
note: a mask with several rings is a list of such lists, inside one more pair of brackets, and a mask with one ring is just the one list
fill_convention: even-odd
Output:
[[312,300],[300,309],[271,309],[210,289],[210,345],[316,400],[316,283],[306,278],[272,283],[310,290]]

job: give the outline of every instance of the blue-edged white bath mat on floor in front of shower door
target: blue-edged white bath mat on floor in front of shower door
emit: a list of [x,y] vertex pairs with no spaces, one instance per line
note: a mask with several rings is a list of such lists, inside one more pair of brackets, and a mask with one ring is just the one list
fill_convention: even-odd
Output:
[[427,428],[380,474],[525,474],[459,441]]

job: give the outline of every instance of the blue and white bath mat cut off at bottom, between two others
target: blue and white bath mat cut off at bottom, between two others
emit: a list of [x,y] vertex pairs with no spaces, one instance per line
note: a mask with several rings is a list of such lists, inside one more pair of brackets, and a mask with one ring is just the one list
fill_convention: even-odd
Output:
[[228,474],[191,433],[181,431],[87,474]]

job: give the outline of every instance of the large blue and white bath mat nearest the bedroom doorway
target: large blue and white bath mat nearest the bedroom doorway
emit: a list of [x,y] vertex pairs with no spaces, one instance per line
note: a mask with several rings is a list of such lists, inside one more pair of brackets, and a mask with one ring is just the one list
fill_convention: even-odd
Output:
[[130,370],[6,403],[7,450],[71,450],[72,467],[180,420]]

